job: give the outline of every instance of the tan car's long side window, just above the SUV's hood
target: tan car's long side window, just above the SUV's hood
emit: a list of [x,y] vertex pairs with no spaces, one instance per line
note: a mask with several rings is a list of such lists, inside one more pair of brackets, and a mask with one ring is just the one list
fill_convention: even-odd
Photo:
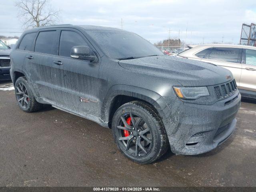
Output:
[[241,59],[241,49],[239,48],[213,48],[209,59],[239,63]]

